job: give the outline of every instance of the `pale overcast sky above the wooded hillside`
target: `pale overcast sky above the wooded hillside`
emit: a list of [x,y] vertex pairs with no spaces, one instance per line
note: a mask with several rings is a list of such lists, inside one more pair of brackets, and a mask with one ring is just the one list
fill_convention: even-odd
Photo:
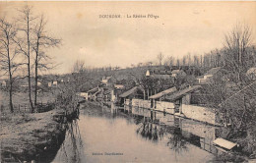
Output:
[[[17,16],[25,2],[0,2],[0,16]],[[43,13],[51,35],[62,46],[47,52],[69,73],[77,59],[87,66],[120,66],[156,61],[160,52],[182,57],[223,46],[224,32],[237,22],[256,33],[256,2],[31,2],[33,13]],[[99,15],[121,15],[100,19]],[[155,18],[127,18],[153,14]]]

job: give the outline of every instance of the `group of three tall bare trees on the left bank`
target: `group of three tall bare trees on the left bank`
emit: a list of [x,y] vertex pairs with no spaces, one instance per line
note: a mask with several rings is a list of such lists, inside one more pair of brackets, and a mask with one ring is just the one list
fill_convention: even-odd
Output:
[[[35,15],[32,6],[26,5],[18,10],[17,17],[10,21],[0,18],[0,66],[5,76],[8,76],[9,107],[14,112],[13,85],[21,78],[27,78],[29,84],[29,100],[32,113],[37,105],[38,70],[49,70],[54,67],[46,49],[57,47],[61,40],[54,38],[46,30],[47,20],[44,15]],[[20,71],[26,70],[26,77],[21,77]],[[34,77],[32,101],[32,77]]]

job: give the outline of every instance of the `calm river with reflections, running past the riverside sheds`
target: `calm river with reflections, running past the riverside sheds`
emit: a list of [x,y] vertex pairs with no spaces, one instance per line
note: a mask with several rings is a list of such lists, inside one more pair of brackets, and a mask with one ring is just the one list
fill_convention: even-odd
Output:
[[52,162],[208,162],[220,152],[217,130],[147,109],[82,105]]

